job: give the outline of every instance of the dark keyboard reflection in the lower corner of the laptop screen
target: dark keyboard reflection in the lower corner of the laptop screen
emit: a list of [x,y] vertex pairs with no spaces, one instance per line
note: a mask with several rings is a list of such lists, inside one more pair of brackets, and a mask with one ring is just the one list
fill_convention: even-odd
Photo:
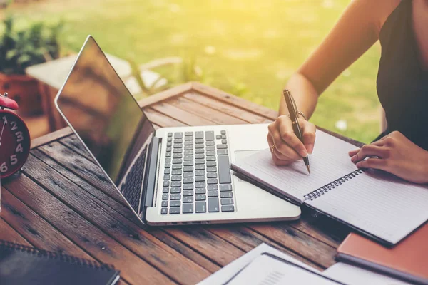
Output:
[[144,163],[146,162],[147,147],[141,152],[136,162],[132,165],[131,170],[126,176],[125,183],[121,185],[121,191],[131,207],[138,212],[140,203],[141,187],[143,185]]

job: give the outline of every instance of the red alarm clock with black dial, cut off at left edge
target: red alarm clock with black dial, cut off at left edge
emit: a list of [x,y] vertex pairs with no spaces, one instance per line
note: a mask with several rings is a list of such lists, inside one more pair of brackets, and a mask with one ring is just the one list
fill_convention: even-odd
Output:
[[7,93],[0,95],[0,178],[13,175],[21,169],[30,153],[30,133],[24,120],[11,110],[18,104]]

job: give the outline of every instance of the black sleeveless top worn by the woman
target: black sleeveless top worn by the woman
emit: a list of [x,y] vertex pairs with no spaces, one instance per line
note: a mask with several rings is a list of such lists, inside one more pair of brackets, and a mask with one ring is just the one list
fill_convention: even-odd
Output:
[[412,0],[402,0],[382,26],[377,94],[387,117],[384,134],[398,130],[428,150],[428,73],[412,23]]

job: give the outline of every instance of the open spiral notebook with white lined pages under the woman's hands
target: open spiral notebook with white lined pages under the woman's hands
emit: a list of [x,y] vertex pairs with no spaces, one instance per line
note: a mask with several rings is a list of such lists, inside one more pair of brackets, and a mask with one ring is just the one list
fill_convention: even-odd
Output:
[[306,204],[387,246],[428,219],[428,186],[385,172],[358,170],[348,152],[356,147],[317,130],[311,175],[302,161],[277,167],[270,150],[233,162],[250,182],[297,204]]

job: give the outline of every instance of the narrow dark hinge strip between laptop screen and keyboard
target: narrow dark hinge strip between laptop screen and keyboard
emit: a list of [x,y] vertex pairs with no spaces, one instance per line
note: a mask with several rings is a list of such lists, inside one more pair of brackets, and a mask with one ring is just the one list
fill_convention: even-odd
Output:
[[158,169],[158,153],[159,147],[161,146],[161,138],[153,137],[151,142],[151,148],[149,150],[148,162],[147,162],[147,175],[144,183],[144,205],[145,207],[153,206],[153,197],[155,196],[156,189],[156,174]]

